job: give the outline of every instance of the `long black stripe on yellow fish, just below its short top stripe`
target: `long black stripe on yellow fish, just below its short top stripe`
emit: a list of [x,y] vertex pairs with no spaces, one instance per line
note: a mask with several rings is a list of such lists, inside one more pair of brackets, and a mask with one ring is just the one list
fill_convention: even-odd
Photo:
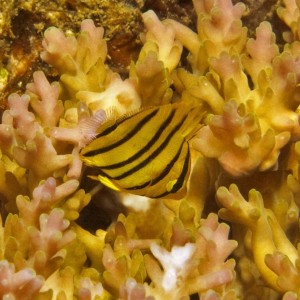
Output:
[[[158,112],[158,109],[154,110],[153,112],[151,112],[149,115],[145,116],[137,125],[135,128],[133,128],[132,131],[130,131],[126,136],[124,136],[122,139],[118,140],[115,143],[112,143],[106,147],[103,148],[98,148],[95,150],[91,150],[88,151],[87,153],[84,153],[84,156],[86,157],[90,157],[90,156],[94,156],[94,155],[98,155],[104,152],[107,152],[111,149],[114,149],[124,143],[126,143],[131,137],[133,137],[134,135],[136,135],[145,124],[147,124]],[[134,115],[133,115],[134,116]],[[132,116],[131,116],[132,117]],[[130,118],[128,118],[130,119]]]

